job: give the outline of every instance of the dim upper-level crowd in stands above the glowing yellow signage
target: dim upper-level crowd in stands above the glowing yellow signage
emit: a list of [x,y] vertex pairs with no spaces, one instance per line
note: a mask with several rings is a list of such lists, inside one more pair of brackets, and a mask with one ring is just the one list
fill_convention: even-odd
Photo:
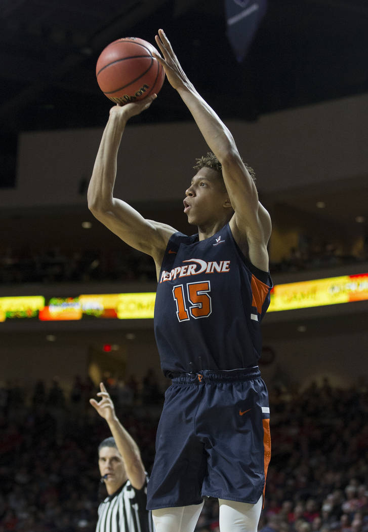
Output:
[[[155,281],[151,257],[128,246],[119,251],[84,250],[65,254],[55,247],[38,253],[29,250],[0,250],[0,282],[89,282]],[[271,262],[271,272],[292,272],[333,268],[368,260],[368,239],[359,256],[343,254],[331,243],[291,248],[279,262]]]

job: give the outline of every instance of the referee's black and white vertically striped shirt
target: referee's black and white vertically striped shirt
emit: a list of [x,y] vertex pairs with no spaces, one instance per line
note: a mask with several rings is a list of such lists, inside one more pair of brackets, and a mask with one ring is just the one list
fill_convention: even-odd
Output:
[[96,532],[153,532],[152,513],[146,504],[147,480],[141,489],[127,480],[98,506]]

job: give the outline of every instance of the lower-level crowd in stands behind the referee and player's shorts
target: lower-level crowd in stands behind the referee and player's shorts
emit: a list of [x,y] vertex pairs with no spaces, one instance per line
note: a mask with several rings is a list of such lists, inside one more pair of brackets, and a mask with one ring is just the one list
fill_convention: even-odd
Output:
[[[124,386],[130,394],[120,394]],[[260,532],[368,532],[368,388],[328,380],[303,392],[269,388],[272,459]],[[145,382],[112,380],[109,389],[149,472],[163,390],[152,371]],[[0,532],[94,530],[105,495],[97,445],[108,436],[88,404],[96,392],[80,377],[68,393],[57,381],[0,386]],[[218,532],[216,500],[206,501],[196,530]]]

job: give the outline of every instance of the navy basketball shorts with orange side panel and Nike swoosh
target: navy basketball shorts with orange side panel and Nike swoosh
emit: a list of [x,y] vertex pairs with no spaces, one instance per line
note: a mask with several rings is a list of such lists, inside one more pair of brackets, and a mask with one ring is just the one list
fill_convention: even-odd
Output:
[[255,504],[271,457],[270,408],[258,367],[180,373],[166,390],[147,509]]

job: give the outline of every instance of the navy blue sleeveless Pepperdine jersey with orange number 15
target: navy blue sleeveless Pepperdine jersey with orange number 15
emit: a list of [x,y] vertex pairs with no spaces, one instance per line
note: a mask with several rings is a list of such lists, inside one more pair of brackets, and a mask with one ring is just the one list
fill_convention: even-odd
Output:
[[269,273],[246,260],[229,224],[200,242],[198,235],[174,233],[155,303],[164,374],[257,365],[271,287]]

